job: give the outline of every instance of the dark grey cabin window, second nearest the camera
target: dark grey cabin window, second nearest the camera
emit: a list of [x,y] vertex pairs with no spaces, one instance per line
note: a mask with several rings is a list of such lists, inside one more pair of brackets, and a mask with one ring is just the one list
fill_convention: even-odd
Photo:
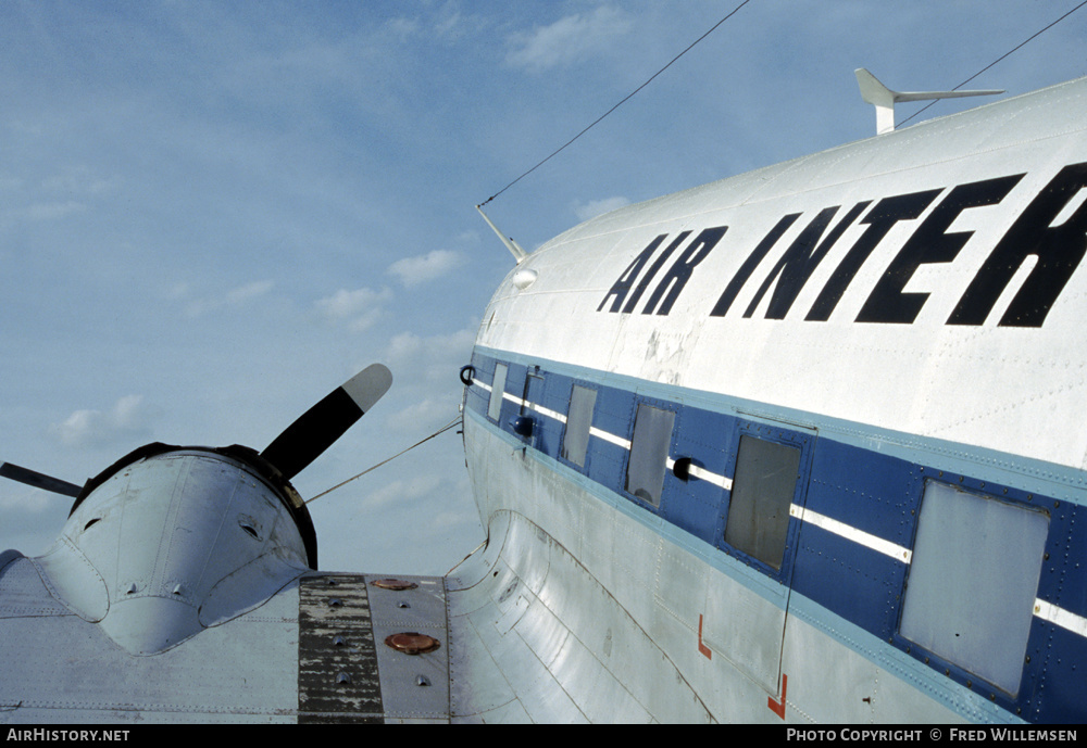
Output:
[[780,569],[799,471],[799,448],[741,435],[725,543]]

